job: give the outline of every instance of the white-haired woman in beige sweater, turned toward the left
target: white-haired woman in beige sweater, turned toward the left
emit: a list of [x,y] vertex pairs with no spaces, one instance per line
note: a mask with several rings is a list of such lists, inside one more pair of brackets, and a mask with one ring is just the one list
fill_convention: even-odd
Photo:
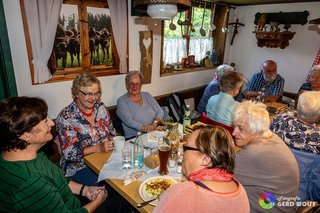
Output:
[[[298,194],[299,170],[286,144],[269,129],[266,105],[252,101],[240,103],[232,112],[233,136],[241,147],[235,161],[235,177],[244,186],[250,212],[294,212],[282,205]],[[284,200],[281,200],[281,197]]]

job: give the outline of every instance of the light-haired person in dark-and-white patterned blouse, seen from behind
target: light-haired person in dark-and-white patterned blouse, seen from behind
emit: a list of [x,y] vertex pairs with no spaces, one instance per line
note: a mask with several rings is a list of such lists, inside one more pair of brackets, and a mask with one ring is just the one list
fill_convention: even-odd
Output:
[[307,91],[298,99],[297,113],[277,115],[270,128],[289,147],[320,154],[320,91]]

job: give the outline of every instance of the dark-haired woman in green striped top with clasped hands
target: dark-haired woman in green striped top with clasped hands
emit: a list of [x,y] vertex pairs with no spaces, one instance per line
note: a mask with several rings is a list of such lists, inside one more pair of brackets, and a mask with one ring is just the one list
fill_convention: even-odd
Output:
[[[106,200],[104,187],[67,180],[40,151],[54,126],[45,101],[11,97],[0,109],[1,212],[93,212]],[[81,206],[74,194],[89,203]]]

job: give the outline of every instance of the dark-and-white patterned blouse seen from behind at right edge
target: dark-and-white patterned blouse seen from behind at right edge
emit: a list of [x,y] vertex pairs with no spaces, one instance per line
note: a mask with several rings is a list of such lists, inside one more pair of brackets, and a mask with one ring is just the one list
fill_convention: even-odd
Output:
[[277,115],[270,129],[289,147],[320,154],[320,128],[306,124],[286,113]]

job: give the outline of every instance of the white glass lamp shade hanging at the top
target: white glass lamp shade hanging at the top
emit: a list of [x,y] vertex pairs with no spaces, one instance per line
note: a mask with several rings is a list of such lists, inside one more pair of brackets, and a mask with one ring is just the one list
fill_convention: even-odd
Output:
[[175,4],[150,4],[147,13],[153,19],[170,20],[178,13]]

